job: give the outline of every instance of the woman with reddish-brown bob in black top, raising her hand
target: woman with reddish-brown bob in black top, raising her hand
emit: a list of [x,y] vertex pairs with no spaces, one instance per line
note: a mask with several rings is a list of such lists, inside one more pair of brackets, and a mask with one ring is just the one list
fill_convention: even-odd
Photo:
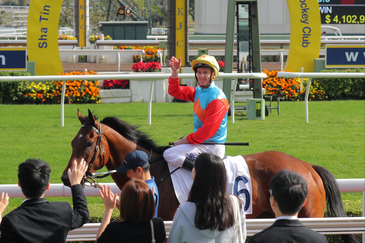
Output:
[[110,186],[107,190],[104,185],[100,195],[105,205],[105,212],[97,231],[96,242],[151,243],[155,239],[156,243],[163,243],[166,239],[165,224],[161,218],[153,218],[155,213],[153,190],[151,191],[142,180],[128,181],[120,193],[122,221],[110,222],[117,195],[111,192]]

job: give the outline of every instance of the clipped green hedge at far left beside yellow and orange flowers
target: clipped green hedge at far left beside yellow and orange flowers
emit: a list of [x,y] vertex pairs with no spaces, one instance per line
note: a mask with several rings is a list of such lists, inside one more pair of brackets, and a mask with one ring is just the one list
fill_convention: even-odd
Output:
[[[31,76],[29,72],[0,72],[0,76]],[[23,103],[23,92],[28,82],[0,82],[0,104]]]

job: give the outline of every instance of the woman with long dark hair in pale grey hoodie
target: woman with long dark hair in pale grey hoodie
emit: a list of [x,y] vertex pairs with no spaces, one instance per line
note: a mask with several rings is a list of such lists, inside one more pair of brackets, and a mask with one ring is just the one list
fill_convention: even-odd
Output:
[[[188,201],[175,213],[168,243],[236,242],[234,203],[226,192],[227,178],[222,159],[211,153],[199,154],[192,175],[194,182]],[[245,239],[246,216],[240,200],[239,204]]]

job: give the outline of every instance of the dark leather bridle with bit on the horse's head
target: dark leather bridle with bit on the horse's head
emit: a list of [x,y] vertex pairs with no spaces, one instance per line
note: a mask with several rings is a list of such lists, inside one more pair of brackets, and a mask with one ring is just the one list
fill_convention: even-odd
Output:
[[[81,128],[82,127],[85,127],[85,125],[82,125]],[[92,157],[91,161],[89,162],[89,166],[88,166],[87,171],[85,172],[85,175],[83,177],[83,180],[84,180],[84,183],[90,183],[90,185],[85,184],[87,187],[95,187],[95,188],[98,188],[98,187],[100,187],[99,180],[98,179],[101,179],[103,177],[107,177],[107,176],[111,175],[113,172],[116,172],[116,171],[99,172],[99,173],[91,173],[90,172],[91,168],[94,165],[94,161],[95,161],[95,158],[96,158],[96,154],[99,151],[99,143],[100,143],[100,148],[101,148],[102,155],[103,155],[103,164],[101,165],[101,168],[104,167],[104,163],[105,163],[105,151],[103,149],[103,141],[101,140],[101,134],[102,134],[101,133],[101,128],[102,128],[102,125],[99,122],[99,131],[95,127],[93,127],[93,126],[91,128],[92,128],[92,130],[94,130],[94,132],[96,132],[96,134],[97,134],[98,137],[97,137],[97,141],[96,141],[94,156]],[[99,175],[103,175],[103,176],[99,176]]]

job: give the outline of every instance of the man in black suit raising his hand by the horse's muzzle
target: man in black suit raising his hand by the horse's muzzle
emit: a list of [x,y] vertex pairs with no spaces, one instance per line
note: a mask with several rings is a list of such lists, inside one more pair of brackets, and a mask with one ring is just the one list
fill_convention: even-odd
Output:
[[[80,184],[87,170],[84,159],[73,162],[68,176],[71,182],[73,209],[68,202],[50,203],[43,196],[49,190],[50,166],[41,159],[28,159],[18,166],[18,185],[24,201],[3,217],[0,242],[64,243],[70,230],[89,220],[89,211]],[[1,212],[0,212],[1,213]]]

